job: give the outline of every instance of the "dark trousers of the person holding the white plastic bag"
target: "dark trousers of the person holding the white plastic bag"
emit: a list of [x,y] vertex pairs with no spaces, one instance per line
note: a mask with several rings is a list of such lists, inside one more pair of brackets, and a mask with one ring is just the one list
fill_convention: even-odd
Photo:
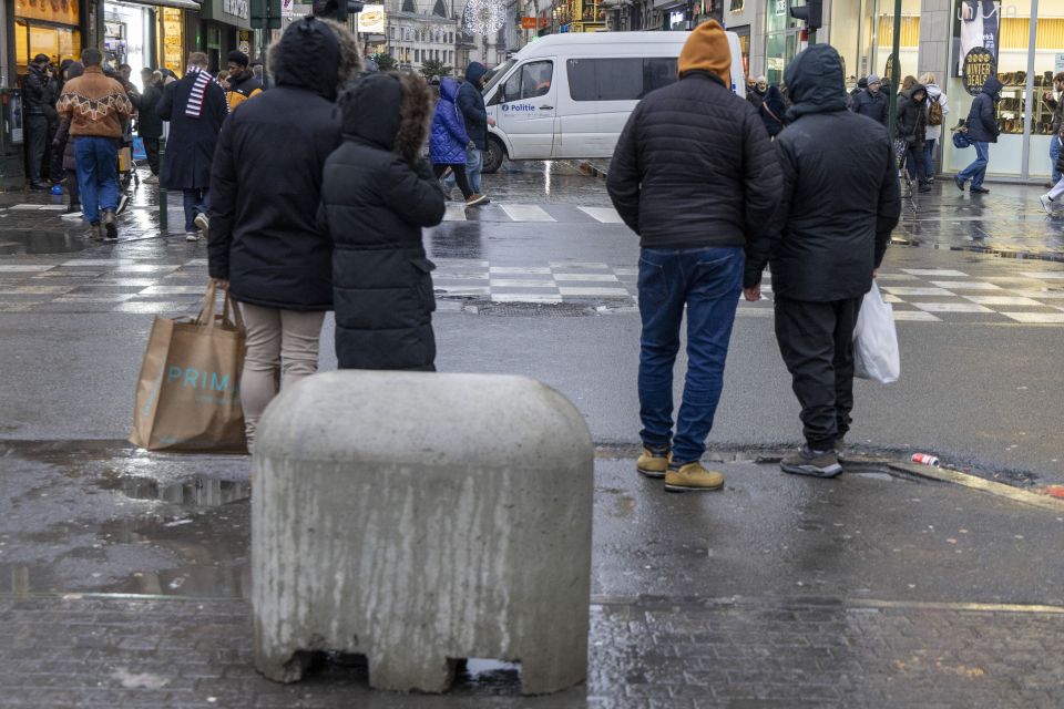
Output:
[[[921,171],[923,172],[923,171]],[[850,430],[853,328],[860,298],[812,302],[776,298],[776,339],[801,404],[809,448],[830,450]]]

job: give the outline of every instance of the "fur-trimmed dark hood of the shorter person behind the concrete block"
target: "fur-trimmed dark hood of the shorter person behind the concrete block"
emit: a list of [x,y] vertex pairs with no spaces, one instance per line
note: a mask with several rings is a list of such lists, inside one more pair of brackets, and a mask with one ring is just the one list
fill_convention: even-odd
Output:
[[429,131],[431,95],[421,76],[409,72],[369,74],[340,96],[344,135],[417,161]]

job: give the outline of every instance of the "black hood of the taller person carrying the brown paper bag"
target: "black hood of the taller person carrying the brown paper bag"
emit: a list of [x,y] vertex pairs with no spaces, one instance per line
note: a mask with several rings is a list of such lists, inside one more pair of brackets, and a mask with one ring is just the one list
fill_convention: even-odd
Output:
[[274,82],[307,89],[332,101],[339,84],[340,44],[332,30],[313,17],[294,22],[272,50]]

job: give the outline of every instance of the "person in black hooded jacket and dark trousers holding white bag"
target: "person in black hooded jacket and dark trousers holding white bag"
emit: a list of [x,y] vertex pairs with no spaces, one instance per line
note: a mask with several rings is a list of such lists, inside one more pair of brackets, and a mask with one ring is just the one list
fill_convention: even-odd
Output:
[[760,299],[770,264],[776,339],[806,439],[780,467],[833,477],[853,408],[853,327],[901,215],[901,191],[887,130],[846,110],[835,48],[798,54],[786,81],[795,105],[776,141],[784,187],[767,238],[748,249],[744,292]]

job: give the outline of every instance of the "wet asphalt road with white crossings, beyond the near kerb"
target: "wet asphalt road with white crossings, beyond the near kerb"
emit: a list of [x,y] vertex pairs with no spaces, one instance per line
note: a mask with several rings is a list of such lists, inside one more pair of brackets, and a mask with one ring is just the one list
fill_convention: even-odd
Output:
[[[608,204],[602,181],[560,168],[489,179],[497,204],[479,213],[469,210],[468,220],[449,220],[427,234],[427,245],[440,264],[436,274],[440,370],[541,379],[586,414],[597,442],[636,443],[635,236],[623,225],[581,210],[594,214]],[[945,248],[947,244],[990,248],[986,234],[1000,232],[996,240],[991,239],[996,250],[1027,249],[1032,256],[1055,258],[1061,225],[1036,217],[1030,203],[1037,191],[1006,186],[1000,188],[1006,194],[998,192],[995,187],[993,201],[988,197],[983,204],[940,188],[899,228],[898,238],[911,240],[918,225],[924,240],[919,247],[892,247],[880,282],[886,289],[900,289],[894,305],[899,317],[921,319],[898,325],[901,380],[889,387],[858,382],[851,439],[898,455],[932,452],[985,474],[1060,482],[1064,265]],[[150,232],[139,236],[137,228],[151,227],[150,203],[144,193],[124,233],[141,240],[72,254],[16,254],[3,261],[40,268],[64,264],[34,274],[0,273],[0,284],[17,278],[8,281],[10,288],[0,287],[4,329],[0,360],[8,372],[8,403],[0,411],[4,438],[122,439],[127,433],[151,317],[195,309],[205,274],[198,260],[205,257],[203,244],[151,238]],[[974,210],[983,214],[979,223],[972,219]],[[48,213],[4,214],[12,226],[14,220],[63,226]],[[9,238],[19,238],[20,233],[12,234]],[[83,247],[71,234],[75,230],[63,235],[64,248]],[[963,235],[968,246],[956,242]],[[58,246],[59,236],[47,238]],[[1035,239],[1041,240],[1040,254],[1032,250]],[[1060,254],[1064,257],[1064,251]],[[108,264],[115,259],[124,259],[119,270],[102,273],[114,268]],[[181,264],[180,270],[170,269],[168,265]],[[535,279],[546,279],[551,287],[542,288],[546,281]],[[958,282],[962,289],[948,290]],[[166,285],[176,288],[167,290]],[[566,285],[577,286],[571,290],[577,295],[565,295]],[[49,288],[66,295],[20,292]],[[70,288],[74,290],[66,292]],[[104,301],[94,301],[98,297]],[[990,305],[975,302],[988,297]],[[1012,305],[1013,300],[1022,302]],[[327,321],[324,369],[335,367],[330,329]],[[681,360],[682,367],[683,356]],[[678,392],[681,382],[676,384]],[[797,413],[773,333],[771,304],[743,304],[710,445],[796,444]]]

